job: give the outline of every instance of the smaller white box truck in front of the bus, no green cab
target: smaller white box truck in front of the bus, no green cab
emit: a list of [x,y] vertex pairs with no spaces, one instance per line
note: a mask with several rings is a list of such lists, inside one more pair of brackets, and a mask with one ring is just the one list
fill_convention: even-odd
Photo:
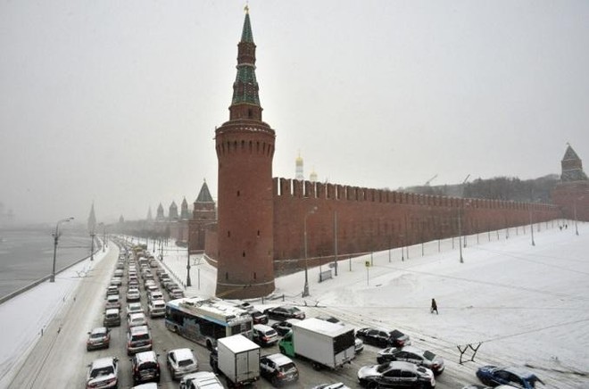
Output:
[[260,346],[244,335],[217,340],[217,368],[228,385],[249,385],[260,378]]

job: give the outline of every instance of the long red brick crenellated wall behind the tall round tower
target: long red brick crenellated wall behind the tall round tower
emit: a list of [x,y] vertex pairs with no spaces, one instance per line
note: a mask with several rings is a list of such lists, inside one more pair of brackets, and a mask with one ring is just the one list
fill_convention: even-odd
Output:
[[[304,267],[306,215],[309,266],[333,257],[377,252],[436,239],[526,226],[562,217],[560,207],[484,199],[460,199],[273,178],[274,262],[280,273]],[[313,208],[317,207],[316,211]],[[337,226],[337,227],[336,227]],[[216,228],[206,234],[206,252],[217,259]]]

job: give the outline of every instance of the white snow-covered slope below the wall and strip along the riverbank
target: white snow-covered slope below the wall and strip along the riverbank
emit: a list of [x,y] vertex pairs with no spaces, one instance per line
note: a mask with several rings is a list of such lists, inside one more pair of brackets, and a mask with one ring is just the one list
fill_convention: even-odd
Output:
[[[412,246],[404,261],[399,249],[344,258],[338,276],[322,283],[319,269],[309,269],[310,296],[301,297],[300,272],[277,278],[276,300],[254,303],[276,305],[284,296],[286,302],[306,304],[310,314],[324,311],[355,327],[401,329],[413,343],[443,355],[448,369],[527,365],[549,387],[589,388],[589,226],[579,224],[577,236],[574,222],[567,223],[562,230],[556,221],[539,231],[536,226],[535,245],[529,228],[527,234],[511,228],[509,238],[504,230],[469,236],[464,263],[458,239],[453,249],[452,240]],[[80,277],[101,259],[66,270],[60,279],[68,283],[44,283],[0,305],[0,387],[55,312],[66,309]],[[190,262],[187,294],[214,294],[215,269],[194,256]],[[186,249],[166,247],[163,264],[186,281]],[[439,315],[429,312],[432,298]],[[458,347],[479,343],[475,362],[459,365]],[[472,355],[469,350],[464,359]]]

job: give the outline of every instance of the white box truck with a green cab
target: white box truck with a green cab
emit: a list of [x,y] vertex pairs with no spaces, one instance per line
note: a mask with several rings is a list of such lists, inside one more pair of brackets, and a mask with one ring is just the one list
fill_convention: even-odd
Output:
[[294,323],[278,348],[291,358],[311,360],[316,369],[341,368],[354,358],[354,338],[353,327],[311,318]]

